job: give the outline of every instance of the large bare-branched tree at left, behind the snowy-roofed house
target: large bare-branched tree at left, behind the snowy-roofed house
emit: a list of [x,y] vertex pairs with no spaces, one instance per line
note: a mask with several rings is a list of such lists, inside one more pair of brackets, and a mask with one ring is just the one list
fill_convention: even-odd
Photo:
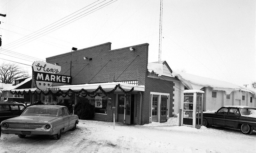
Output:
[[0,66],[0,82],[12,83],[12,81],[25,77],[26,72],[16,64],[5,64]]

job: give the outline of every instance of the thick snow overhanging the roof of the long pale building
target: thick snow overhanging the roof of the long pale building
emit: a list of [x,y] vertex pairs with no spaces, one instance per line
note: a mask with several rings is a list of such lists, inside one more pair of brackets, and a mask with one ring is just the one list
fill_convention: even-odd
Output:
[[230,94],[234,90],[248,91],[256,97],[256,91],[243,86],[238,86],[226,81],[206,78],[189,73],[172,71],[172,77],[177,77],[188,89],[200,90],[203,87],[212,87],[213,90],[222,90]]

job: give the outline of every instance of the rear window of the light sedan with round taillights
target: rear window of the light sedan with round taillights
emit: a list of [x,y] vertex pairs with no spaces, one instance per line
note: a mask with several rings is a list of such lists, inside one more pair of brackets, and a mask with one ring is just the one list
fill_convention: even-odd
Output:
[[58,116],[57,108],[27,108],[22,115],[52,115]]

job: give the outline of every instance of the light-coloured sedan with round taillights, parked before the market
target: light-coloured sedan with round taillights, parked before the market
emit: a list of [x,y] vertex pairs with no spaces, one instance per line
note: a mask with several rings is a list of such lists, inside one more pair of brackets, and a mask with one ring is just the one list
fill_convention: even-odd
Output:
[[35,105],[29,106],[18,117],[1,122],[2,133],[26,135],[53,135],[60,139],[61,132],[75,130],[78,116],[69,114],[66,106]]

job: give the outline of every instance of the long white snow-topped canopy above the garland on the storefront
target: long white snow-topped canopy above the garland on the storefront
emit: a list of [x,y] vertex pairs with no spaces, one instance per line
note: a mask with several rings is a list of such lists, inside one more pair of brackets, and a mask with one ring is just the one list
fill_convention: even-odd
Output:
[[[88,92],[95,91],[99,86],[104,89],[104,91],[108,92],[113,90],[116,85],[120,84],[120,86],[126,90],[129,91],[134,87],[133,91],[145,91],[145,86],[136,86],[132,84],[122,83],[122,82],[107,82],[107,83],[93,83],[93,84],[81,84],[81,85],[64,85],[60,87],[49,87],[48,90],[61,90],[61,91],[68,91],[68,89],[74,90],[74,91],[80,91],[81,89],[85,89]],[[117,88],[116,92],[121,91],[121,89]]]

